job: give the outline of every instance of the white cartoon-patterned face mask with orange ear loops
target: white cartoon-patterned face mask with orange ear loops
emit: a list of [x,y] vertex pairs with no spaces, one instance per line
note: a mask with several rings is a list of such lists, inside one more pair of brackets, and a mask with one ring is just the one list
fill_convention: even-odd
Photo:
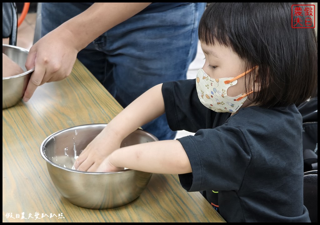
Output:
[[[254,67],[256,68],[256,67]],[[252,68],[252,69],[254,69]],[[236,112],[248,98],[249,93],[243,93],[236,97],[227,95],[227,89],[237,83],[237,79],[249,73],[252,69],[245,71],[236,77],[213,79],[204,70],[199,69],[196,77],[196,89],[201,103],[215,112]]]

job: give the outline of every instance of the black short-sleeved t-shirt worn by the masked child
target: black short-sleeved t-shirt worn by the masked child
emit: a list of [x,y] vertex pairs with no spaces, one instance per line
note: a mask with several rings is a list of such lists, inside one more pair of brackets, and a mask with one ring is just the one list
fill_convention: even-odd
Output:
[[178,139],[192,167],[179,174],[182,187],[201,191],[227,222],[309,222],[296,106],[252,106],[230,117],[202,105],[195,84],[162,86],[170,128],[195,133]]

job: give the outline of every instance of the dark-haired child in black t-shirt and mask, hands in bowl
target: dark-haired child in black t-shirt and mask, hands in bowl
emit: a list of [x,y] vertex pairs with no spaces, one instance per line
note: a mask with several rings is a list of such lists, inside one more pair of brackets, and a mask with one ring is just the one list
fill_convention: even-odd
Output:
[[[142,94],[84,149],[76,169],[179,174],[227,222],[309,222],[295,104],[316,91],[317,39],[314,29],[292,28],[292,4],[211,3],[199,25],[205,63],[196,79]],[[163,113],[172,130],[195,135],[119,148]]]

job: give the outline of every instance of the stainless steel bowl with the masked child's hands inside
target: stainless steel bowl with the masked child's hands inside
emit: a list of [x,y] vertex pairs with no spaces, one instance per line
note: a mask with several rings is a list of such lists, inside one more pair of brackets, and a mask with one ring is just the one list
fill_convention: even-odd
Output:
[[[70,127],[48,136],[40,147],[53,184],[71,203],[91,209],[108,209],[132,202],[146,188],[152,173],[125,169],[111,173],[73,170],[75,159],[107,124]],[[121,147],[158,139],[138,129]]]

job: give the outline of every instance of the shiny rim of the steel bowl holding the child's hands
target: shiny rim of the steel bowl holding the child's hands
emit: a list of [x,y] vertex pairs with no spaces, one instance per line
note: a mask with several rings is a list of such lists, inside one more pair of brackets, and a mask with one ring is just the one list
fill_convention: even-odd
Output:
[[[124,169],[124,170],[119,170],[119,171],[112,171],[112,172],[87,172],[87,171],[79,171],[79,170],[73,170],[73,169],[70,169],[70,168],[66,168],[66,167],[63,167],[63,166],[60,166],[60,165],[57,165],[55,163],[53,163],[52,161],[50,161],[48,159],[48,157],[44,154],[43,152],[43,149],[44,149],[44,145],[46,144],[46,142],[48,142],[49,140],[52,139],[53,136],[55,136],[56,134],[58,133],[63,133],[63,132],[66,132],[68,130],[74,130],[75,128],[77,127],[84,127],[84,126],[87,126],[87,125],[91,125],[91,126],[102,126],[102,125],[105,125],[107,126],[108,124],[107,123],[98,123],[98,124],[83,124],[83,125],[76,125],[76,126],[72,126],[72,127],[68,127],[68,128],[65,128],[65,129],[62,129],[60,131],[57,131],[55,133],[52,133],[51,135],[49,135],[48,137],[46,137],[44,139],[44,141],[41,143],[40,145],[40,154],[42,156],[42,158],[49,164],[57,167],[57,168],[60,168],[60,169],[63,169],[63,170],[67,170],[67,171],[70,171],[70,172],[74,172],[74,173],[83,173],[83,174],[96,174],[96,175],[99,175],[99,174],[116,174],[116,173],[125,173],[125,172],[129,172],[129,171],[133,171],[132,169]],[[152,138],[154,138],[155,140],[158,140],[156,138],[156,136],[154,136],[153,134],[149,133],[148,131],[145,131],[141,128],[138,128],[137,130],[141,130],[145,133],[147,133],[148,135],[150,135]],[[142,172],[142,173],[145,173],[145,172]]]

